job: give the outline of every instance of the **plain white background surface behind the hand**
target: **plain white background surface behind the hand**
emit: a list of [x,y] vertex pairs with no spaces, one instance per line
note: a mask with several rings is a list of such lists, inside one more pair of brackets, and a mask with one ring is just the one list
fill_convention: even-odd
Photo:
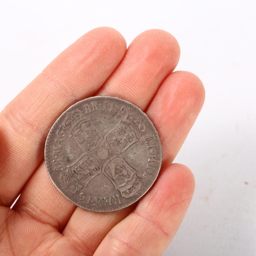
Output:
[[175,162],[196,191],[164,255],[256,255],[256,15],[253,1],[5,1],[0,109],[82,34],[119,30],[127,45],[159,28],[180,43],[176,70],[198,75],[203,110]]

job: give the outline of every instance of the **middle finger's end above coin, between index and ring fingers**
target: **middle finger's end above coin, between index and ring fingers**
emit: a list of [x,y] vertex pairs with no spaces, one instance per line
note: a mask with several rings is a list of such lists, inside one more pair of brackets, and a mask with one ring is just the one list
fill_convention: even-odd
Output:
[[145,111],[164,78],[180,58],[177,40],[162,30],[148,30],[137,36],[100,88],[98,95],[128,100]]

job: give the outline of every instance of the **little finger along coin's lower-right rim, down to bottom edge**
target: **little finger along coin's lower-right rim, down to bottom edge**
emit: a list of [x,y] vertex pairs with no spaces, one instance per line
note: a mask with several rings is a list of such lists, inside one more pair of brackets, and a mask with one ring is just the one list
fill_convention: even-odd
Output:
[[165,167],[153,189],[106,235],[94,255],[162,255],[185,216],[194,187],[187,167]]

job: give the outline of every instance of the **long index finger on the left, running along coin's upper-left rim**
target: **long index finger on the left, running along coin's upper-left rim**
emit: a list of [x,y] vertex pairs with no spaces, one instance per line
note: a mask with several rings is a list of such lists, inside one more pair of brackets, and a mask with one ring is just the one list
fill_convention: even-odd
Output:
[[125,52],[114,29],[79,38],[36,77],[0,114],[0,204],[10,206],[43,159],[56,118],[72,103],[92,96]]

